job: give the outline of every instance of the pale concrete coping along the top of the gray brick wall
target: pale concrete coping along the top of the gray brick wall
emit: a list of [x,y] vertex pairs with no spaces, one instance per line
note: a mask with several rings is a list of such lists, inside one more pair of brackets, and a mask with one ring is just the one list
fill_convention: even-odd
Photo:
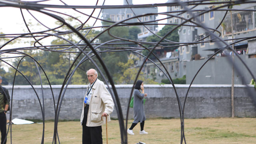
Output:
[[[133,84],[117,84],[115,85],[116,88],[132,88]],[[189,84],[175,84],[176,88],[188,88]],[[235,84],[235,88],[245,88],[254,87],[253,85],[241,85]],[[12,86],[4,86],[7,89],[12,89]],[[38,89],[41,88],[40,85],[34,85],[34,88]],[[52,85],[52,89],[59,89],[62,85]],[[108,88],[108,86],[106,85]],[[112,88],[111,85],[109,85]],[[144,84],[145,88],[173,88],[172,84]],[[228,88],[231,87],[231,84],[192,84],[191,88]],[[29,85],[26,86],[14,86],[14,89],[31,89],[32,87]],[[43,88],[50,88],[49,85],[43,85]],[[64,87],[65,88],[65,87]],[[68,85],[68,88],[87,88],[87,85]]]

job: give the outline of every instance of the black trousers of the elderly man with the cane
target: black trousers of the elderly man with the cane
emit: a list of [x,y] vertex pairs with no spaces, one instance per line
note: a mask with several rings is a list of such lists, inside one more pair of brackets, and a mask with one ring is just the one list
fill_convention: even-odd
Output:
[[84,108],[83,119],[83,144],[102,144],[102,128],[101,126],[88,127],[86,126],[89,105]]

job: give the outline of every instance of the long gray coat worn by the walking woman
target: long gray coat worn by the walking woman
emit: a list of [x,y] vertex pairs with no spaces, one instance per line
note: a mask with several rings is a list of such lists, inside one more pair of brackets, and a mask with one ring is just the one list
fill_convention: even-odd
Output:
[[146,116],[144,113],[144,105],[143,105],[144,94],[140,93],[139,90],[134,90],[134,100],[133,100],[133,123],[142,122],[146,120]]

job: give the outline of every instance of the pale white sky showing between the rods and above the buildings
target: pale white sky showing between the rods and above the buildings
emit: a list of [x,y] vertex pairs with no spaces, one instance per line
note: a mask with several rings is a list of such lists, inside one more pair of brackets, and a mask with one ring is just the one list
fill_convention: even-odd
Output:
[[[26,0],[26,1],[37,1],[37,0]],[[38,0],[40,1],[40,0]],[[68,5],[84,5],[84,6],[94,6],[96,4],[96,0],[62,0],[64,1],[66,4]],[[98,5],[102,5],[104,0],[99,0],[98,1]],[[155,4],[155,3],[166,3],[168,0],[133,0],[133,4]],[[40,2],[40,4],[43,4],[42,2]],[[54,5],[63,5],[59,0],[48,0],[45,2],[45,4],[54,4]],[[123,5],[123,0],[105,0],[105,4],[104,5]],[[167,8],[166,6],[162,6],[162,7],[158,7],[158,12],[166,12]],[[57,11],[61,11],[64,13],[68,13],[71,14],[72,16],[78,16],[76,14],[78,14],[77,12],[74,13],[74,10],[71,9],[57,9]],[[86,13],[86,14],[90,14],[90,12],[92,12],[92,9],[88,9],[88,10],[81,10],[82,12]],[[30,21],[31,23],[38,23],[36,20],[34,20],[34,18],[26,11],[26,10],[22,10],[24,17],[26,19],[26,21]],[[50,16],[46,16],[42,13],[39,12],[35,12],[35,11],[30,11],[38,20],[40,20],[44,25],[48,26],[49,28],[54,28],[56,27],[56,25],[54,24],[54,22],[56,21],[55,19],[51,18]],[[94,12],[94,17],[98,16],[98,13],[100,12],[100,9],[96,9],[96,11]],[[74,15],[73,15],[74,13]],[[84,15],[81,15],[84,16]],[[161,18],[165,18],[166,16],[163,15],[159,15],[157,17],[157,19],[161,19]],[[101,18],[101,15],[100,17]],[[3,32],[4,34],[20,34],[20,33],[24,33],[24,30],[26,30],[26,26],[24,24],[24,21],[22,19],[22,15],[20,12],[19,8],[13,8],[13,7],[0,7],[0,32]],[[83,20],[86,20],[86,18],[84,18]],[[87,24],[89,24],[90,26],[92,26],[92,24],[94,23],[95,19],[90,20]],[[162,20],[159,21],[158,23],[166,23],[166,20]],[[98,20],[96,22],[96,24],[94,26],[101,26],[101,22]],[[162,25],[158,26],[158,30],[162,29]],[[45,30],[45,27],[41,27],[41,30]],[[100,30],[100,29],[98,29]],[[31,30],[32,32],[35,31],[40,31],[40,26],[36,27],[36,30]],[[26,30],[26,32],[28,32],[28,30]],[[44,39],[44,42],[42,42],[42,44],[50,44],[50,42],[52,41],[51,38],[46,38]],[[1,39],[0,39],[0,45],[2,45],[3,43],[1,43]],[[29,46],[29,45],[26,45]],[[2,48],[2,50],[4,49],[10,49],[10,48],[17,48],[17,47],[24,47],[24,44],[15,44],[15,45],[7,45],[4,48]],[[7,54],[8,55],[8,54]],[[4,55],[2,55],[2,57],[4,57]],[[2,64],[2,67],[4,65]],[[7,67],[4,66],[4,69],[7,71]]]

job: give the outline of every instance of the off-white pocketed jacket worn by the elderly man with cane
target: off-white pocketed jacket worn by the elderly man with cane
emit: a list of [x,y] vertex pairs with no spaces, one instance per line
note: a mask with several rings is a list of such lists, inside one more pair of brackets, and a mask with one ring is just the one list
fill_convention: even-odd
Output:
[[[88,92],[88,87],[86,94]],[[84,98],[86,95],[84,96]],[[84,103],[84,101],[83,101]],[[114,102],[113,99],[108,92],[104,82],[100,81],[99,79],[96,80],[94,85],[92,86],[92,96],[90,98],[88,116],[87,116],[87,123],[86,126],[102,126],[106,121],[106,117],[103,116],[103,120],[101,120],[101,116],[103,112],[108,114],[108,122],[110,122],[110,114],[114,110]],[[81,115],[81,125],[84,119],[84,104],[82,108],[82,115]]]

